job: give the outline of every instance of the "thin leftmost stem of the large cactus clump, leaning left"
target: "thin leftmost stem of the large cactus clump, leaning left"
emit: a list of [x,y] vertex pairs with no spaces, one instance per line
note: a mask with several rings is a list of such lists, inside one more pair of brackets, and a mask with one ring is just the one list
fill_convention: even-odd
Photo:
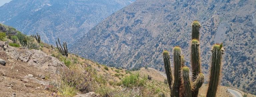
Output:
[[171,70],[171,63],[170,63],[170,55],[168,51],[163,52],[163,59],[164,59],[164,68],[165,73],[167,76],[167,81],[169,84],[169,88],[172,91],[172,70]]

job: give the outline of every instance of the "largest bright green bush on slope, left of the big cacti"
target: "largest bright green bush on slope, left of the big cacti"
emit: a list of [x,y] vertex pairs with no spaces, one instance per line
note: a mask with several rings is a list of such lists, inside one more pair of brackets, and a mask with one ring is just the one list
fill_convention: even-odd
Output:
[[121,81],[121,84],[126,87],[143,86],[144,84],[146,84],[145,80],[145,78],[139,78],[139,73],[137,73],[124,77]]

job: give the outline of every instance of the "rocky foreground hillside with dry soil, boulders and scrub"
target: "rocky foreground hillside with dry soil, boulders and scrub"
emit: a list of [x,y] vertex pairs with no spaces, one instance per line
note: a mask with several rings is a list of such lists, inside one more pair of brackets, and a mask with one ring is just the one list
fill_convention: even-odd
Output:
[[[77,55],[63,56],[57,48],[37,43],[31,48],[30,36],[15,28],[0,25],[0,96],[1,97],[169,97],[166,75],[152,68],[128,71],[107,67]],[[2,32],[4,31],[4,32]],[[3,34],[4,33],[4,34]],[[16,40],[14,37],[19,37]],[[10,38],[10,39],[9,39]],[[33,37],[30,37],[33,38]],[[18,42],[21,41],[21,42]],[[14,45],[16,44],[16,45]],[[146,76],[150,75],[148,79]],[[205,97],[207,84],[199,90]],[[230,97],[229,87],[219,86],[216,97]]]

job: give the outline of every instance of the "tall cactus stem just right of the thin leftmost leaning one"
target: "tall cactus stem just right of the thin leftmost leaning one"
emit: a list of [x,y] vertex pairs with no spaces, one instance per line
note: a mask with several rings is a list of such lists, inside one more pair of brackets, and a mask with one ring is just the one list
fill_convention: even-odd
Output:
[[174,47],[173,51],[173,60],[174,60],[174,82],[173,82],[173,90],[172,90],[172,96],[179,97],[180,94],[180,87],[181,87],[181,48],[180,47]]

